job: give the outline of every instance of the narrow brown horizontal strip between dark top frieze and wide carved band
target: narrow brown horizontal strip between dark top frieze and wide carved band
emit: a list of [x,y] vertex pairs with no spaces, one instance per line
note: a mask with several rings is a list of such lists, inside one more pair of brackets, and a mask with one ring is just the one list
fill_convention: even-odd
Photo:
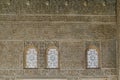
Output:
[[115,15],[0,15],[0,21],[116,22]]

